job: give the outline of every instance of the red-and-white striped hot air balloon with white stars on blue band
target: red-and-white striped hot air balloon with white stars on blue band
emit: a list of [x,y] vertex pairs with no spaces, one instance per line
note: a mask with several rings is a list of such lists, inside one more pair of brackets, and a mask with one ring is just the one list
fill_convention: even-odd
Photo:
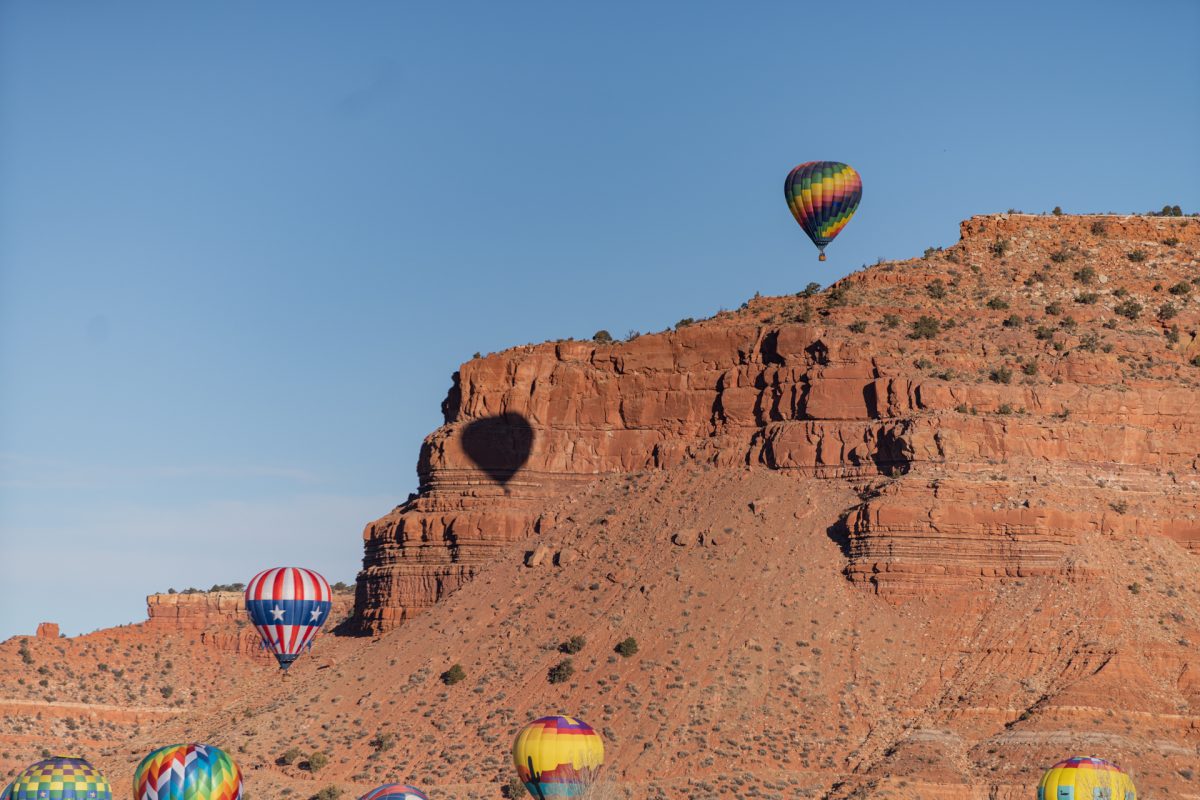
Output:
[[281,566],[263,570],[246,587],[246,610],[263,646],[287,669],[329,618],[334,593],[312,570]]

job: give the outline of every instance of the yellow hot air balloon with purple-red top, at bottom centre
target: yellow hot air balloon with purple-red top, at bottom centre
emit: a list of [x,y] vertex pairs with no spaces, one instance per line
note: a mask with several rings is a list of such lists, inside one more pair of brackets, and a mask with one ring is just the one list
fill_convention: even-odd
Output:
[[539,800],[578,798],[604,765],[604,740],[583,720],[541,717],[517,734],[512,764],[529,794]]

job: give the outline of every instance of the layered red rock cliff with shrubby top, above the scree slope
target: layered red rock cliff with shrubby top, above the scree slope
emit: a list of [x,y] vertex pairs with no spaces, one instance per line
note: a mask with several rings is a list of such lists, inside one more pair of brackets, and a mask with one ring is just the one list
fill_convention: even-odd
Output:
[[1200,221],[961,234],[821,294],[463,365],[419,497],[364,531],[359,625],[389,630],[551,530],[547,500],[686,461],[871,486],[830,524],[846,577],[893,601],[1084,579],[1091,533],[1200,547]]

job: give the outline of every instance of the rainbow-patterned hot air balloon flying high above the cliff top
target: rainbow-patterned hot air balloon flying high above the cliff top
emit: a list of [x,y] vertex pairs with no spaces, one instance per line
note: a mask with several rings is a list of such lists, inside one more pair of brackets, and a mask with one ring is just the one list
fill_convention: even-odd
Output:
[[863,179],[839,161],[810,161],[787,174],[784,197],[824,260],[826,245],[846,227],[863,199]]

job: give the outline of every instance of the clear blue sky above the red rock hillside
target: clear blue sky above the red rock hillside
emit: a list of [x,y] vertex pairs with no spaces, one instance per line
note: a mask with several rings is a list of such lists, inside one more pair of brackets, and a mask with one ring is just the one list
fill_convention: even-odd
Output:
[[[0,4],[0,637],[352,581],[476,351],[1200,210],[1200,5]],[[863,176],[816,253],[794,164]]]

